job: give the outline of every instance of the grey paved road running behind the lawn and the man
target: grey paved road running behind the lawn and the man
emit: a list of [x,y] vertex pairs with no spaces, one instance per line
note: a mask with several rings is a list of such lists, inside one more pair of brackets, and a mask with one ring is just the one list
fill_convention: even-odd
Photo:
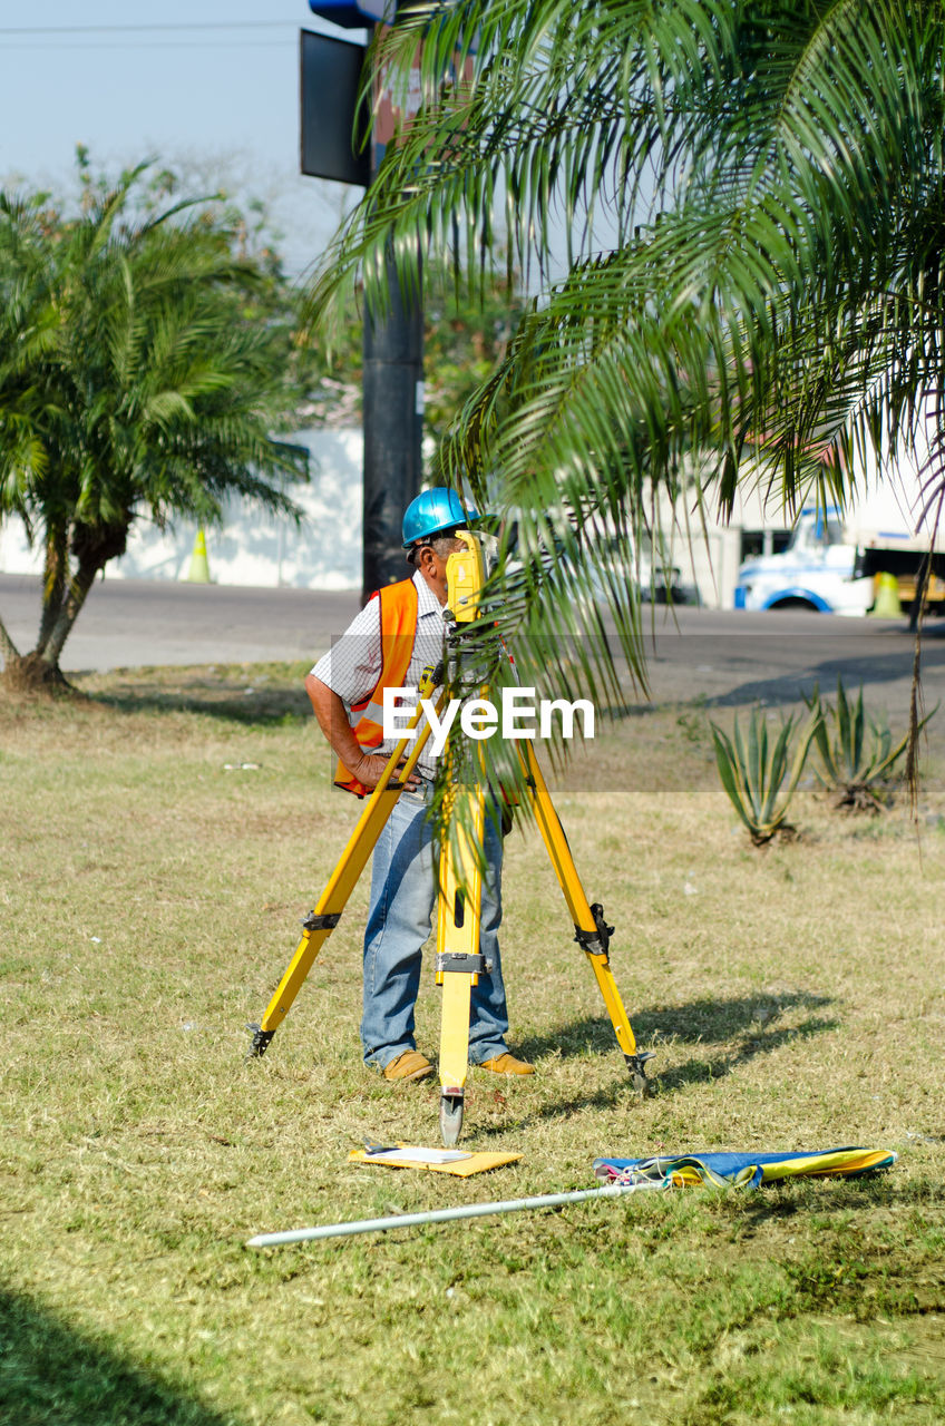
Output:
[[[39,605],[39,579],[0,575],[0,616],[21,647],[34,635]],[[63,667],[308,659],[330,646],[357,607],[354,593],[104,580],[89,596]],[[864,682],[889,714],[908,707],[912,639],[905,620],[689,607],[674,620],[657,607],[647,630],[654,702],[794,702],[815,679],[827,692],[842,673],[848,687]],[[924,684],[926,703],[945,696],[945,620],[928,626]]]

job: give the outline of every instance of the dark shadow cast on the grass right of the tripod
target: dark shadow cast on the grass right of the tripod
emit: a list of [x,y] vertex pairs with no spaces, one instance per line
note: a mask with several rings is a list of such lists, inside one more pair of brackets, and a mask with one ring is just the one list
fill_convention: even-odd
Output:
[[[771,1054],[794,1041],[837,1030],[839,1021],[809,1014],[798,1025],[778,1025],[788,1010],[818,1011],[829,1005],[829,995],[807,991],[787,991],[778,995],[749,995],[737,1000],[697,1000],[687,1005],[658,1005],[631,1014],[631,1025],[641,1050],[660,1050],[660,1044],[724,1045],[717,1054],[692,1055],[679,1065],[654,1074],[662,1092],[681,1089],[689,1084],[721,1079],[757,1055]],[[614,1031],[607,1015],[585,1017],[564,1025],[557,1034],[532,1035],[521,1042],[520,1052],[527,1060],[558,1051],[562,1058],[577,1058],[588,1052],[607,1054],[614,1048]],[[557,1118],[587,1108],[611,1108],[627,1089],[621,1079],[612,1088],[595,1091],[580,1099],[557,1102],[540,1109],[535,1118]]]

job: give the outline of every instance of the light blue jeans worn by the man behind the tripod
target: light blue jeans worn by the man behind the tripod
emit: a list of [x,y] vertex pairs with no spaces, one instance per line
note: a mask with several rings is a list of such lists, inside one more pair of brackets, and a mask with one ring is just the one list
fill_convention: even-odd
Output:
[[[374,848],[371,904],[364,933],[364,1062],[383,1070],[414,1044],[414,1002],[420,990],[421,947],[430,935],[437,900],[433,827],[427,809],[433,784],[403,791]],[[502,837],[487,816],[480,953],[492,961],[470,1000],[470,1061],[481,1064],[505,1050],[508,1014],[498,954],[502,920]]]

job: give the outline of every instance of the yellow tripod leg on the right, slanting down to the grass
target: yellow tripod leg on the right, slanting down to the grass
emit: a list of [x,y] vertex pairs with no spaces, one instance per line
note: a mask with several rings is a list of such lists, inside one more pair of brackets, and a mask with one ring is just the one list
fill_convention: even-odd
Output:
[[535,820],[538,823],[542,841],[548,851],[548,857],[551,858],[551,866],[554,867],[558,884],[564,893],[564,900],[568,904],[571,920],[574,921],[574,938],[591,963],[594,978],[597,980],[598,990],[604,998],[607,1014],[611,1018],[614,1034],[617,1035],[617,1044],[624,1054],[634,1087],[642,1095],[650,1095],[652,1094],[652,1081],[647,1078],[647,1061],[652,1060],[652,1051],[640,1051],[637,1048],[637,1038],[627,1017],[627,1011],[624,1010],[624,1002],[620,997],[614,973],[610,967],[607,948],[614,933],[614,927],[607,925],[602,906],[597,903],[591,906],[588,903],[584,886],[577,867],[574,866],[574,857],[571,856],[571,848],[568,847],[568,838],[565,837],[561,820],[554,810],[548,786],[544,780],[531,743],[525,743],[525,749],[527,750],[522,752],[520,743],[518,756],[522,760],[522,766],[528,777]]

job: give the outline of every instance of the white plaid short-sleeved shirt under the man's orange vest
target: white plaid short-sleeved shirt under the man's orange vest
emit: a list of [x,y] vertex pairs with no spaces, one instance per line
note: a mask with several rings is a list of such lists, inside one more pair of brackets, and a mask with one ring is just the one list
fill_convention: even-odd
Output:
[[[404,687],[408,689],[417,689],[424,669],[430,666],[435,669],[443,660],[443,605],[418,570],[414,572],[414,588],[417,589],[417,633],[404,679]],[[351,704],[361,703],[377,687],[381,667],[380,602],[371,599],[351,620],[345,632],[334,640],[328,653],[318,659],[311,672],[333,693],[338,694],[350,716]],[[431,696],[437,697],[435,693]],[[393,739],[384,739],[373,752],[390,757],[395,746]],[[430,743],[427,743],[417,760],[417,771],[421,777],[433,777],[437,761],[430,752]]]

